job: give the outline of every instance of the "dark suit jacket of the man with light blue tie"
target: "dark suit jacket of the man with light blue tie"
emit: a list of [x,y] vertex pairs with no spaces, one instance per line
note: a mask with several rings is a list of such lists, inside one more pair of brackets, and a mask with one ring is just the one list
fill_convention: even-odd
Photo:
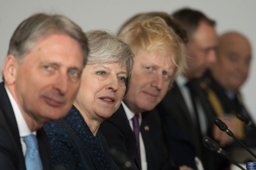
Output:
[[[26,170],[17,122],[4,83],[0,84],[0,136],[1,170]],[[52,169],[49,145],[42,129],[37,131],[37,140],[43,169]]]

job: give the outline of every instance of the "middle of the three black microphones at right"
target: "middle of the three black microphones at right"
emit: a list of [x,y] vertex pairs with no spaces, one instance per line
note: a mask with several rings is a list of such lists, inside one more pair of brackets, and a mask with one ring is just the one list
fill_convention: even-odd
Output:
[[229,136],[233,137],[236,141],[238,141],[238,143],[240,143],[242,147],[244,147],[252,156],[254,156],[254,158],[256,158],[256,155],[247,146],[245,146],[244,143],[242,143],[237,137],[235,137],[233,132],[231,132],[231,130],[228,129],[228,126],[223,121],[221,121],[219,118],[215,118],[214,124],[218,126],[220,130],[226,132],[226,134],[228,134]]

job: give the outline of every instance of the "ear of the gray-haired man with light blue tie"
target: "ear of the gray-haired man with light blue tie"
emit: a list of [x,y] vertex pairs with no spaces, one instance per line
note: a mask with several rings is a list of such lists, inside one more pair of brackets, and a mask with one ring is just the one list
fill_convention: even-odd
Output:
[[4,61],[3,75],[5,84],[14,84],[16,80],[17,69],[19,67],[18,61],[14,55],[8,55]]

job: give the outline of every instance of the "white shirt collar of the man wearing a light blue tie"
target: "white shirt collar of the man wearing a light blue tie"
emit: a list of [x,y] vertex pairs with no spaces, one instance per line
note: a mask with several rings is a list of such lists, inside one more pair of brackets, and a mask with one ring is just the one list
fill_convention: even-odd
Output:
[[25,121],[25,119],[22,116],[22,113],[20,111],[20,108],[18,107],[17,102],[15,101],[14,97],[12,96],[11,92],[8,90],[8,88],[5,86],[5,90],[7,92],[7,95],[10,99],[12,109],[14,111],[15,119],[18,125],[18,131],[20,134],[20,137],[24,137],[31,134],[30,129],[28,128],[28,125]]

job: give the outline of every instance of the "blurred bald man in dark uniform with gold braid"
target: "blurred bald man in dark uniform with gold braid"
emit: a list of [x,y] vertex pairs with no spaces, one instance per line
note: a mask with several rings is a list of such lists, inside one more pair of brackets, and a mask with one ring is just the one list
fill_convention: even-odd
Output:
[[[236,118],[236,114],[241,114],[252,121],[240,94],[240,87],[249,75],[251,58],[251,45],[244,35],[224,33],[219,37],[217,62],[206,72],[201,85],[218,117],[247,146],[255,147],[255,132]],[[228,150],[239,146],[217,126],[214,127],[214,139]]]

